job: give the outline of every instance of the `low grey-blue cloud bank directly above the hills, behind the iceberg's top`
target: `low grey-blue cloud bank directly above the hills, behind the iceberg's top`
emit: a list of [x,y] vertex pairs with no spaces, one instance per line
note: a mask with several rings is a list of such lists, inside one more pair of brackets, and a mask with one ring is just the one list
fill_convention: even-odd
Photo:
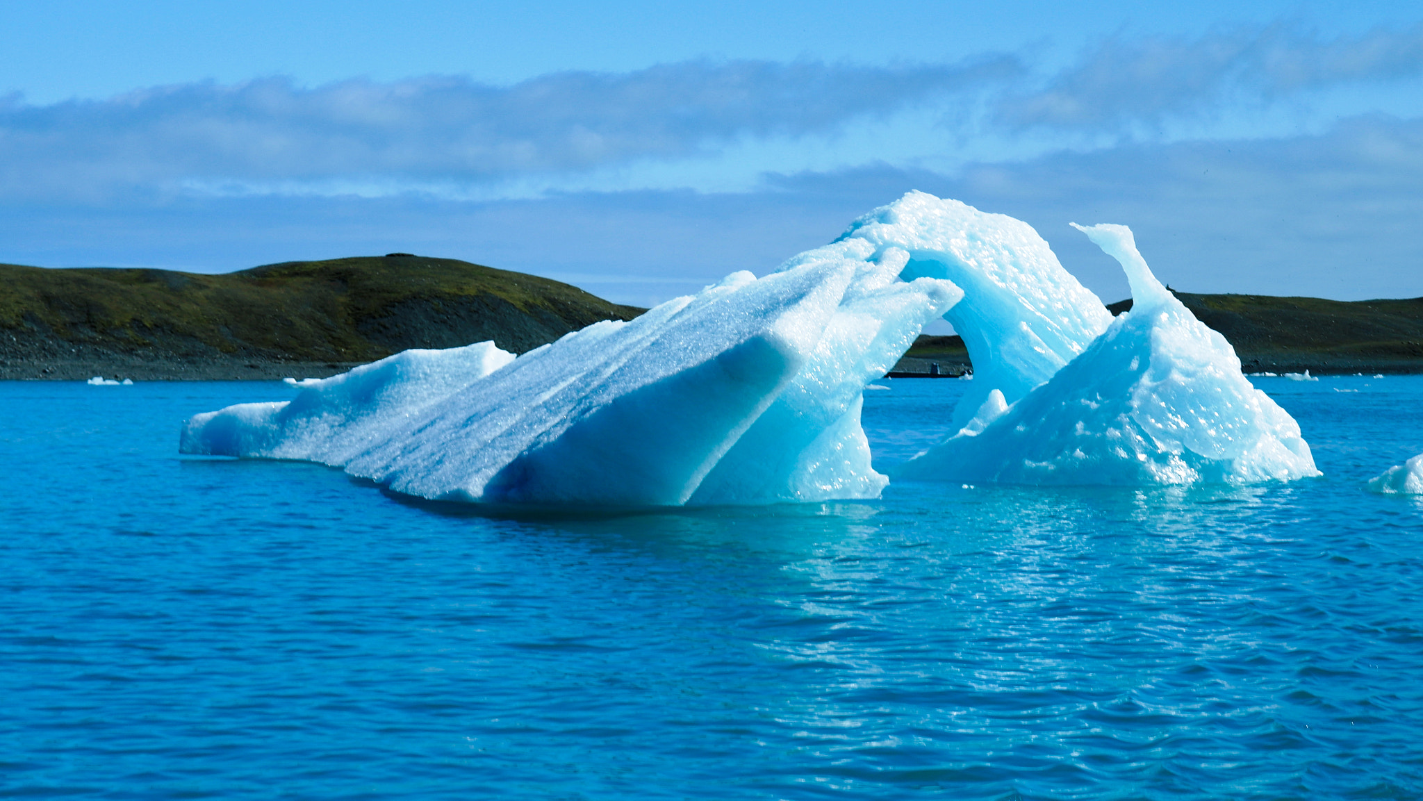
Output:
[[649,304],[834,239],[909,189],[1027,221],[1106,300],[1120,267],[1069,222],[1126,223],[1187,292],[1423,296],[1423,120],[1322,135],[1138,142],[980,162],[956,175],[872,164],[773,175],[756,192],[582,192],[454,202],[176,198],[158,206],[0,205],[0,262],[232,270],[404,250],[548,275]]

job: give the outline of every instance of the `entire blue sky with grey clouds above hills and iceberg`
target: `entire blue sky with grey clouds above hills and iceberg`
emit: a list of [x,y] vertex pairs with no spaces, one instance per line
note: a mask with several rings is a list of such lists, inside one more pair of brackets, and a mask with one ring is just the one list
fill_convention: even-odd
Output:
[[[921,189],[1185,292],[1423,296],[1413,3],[0,4],[0,262],[386,252],[649,306]],[[1161,4],[1165,6],[1165,4]]]

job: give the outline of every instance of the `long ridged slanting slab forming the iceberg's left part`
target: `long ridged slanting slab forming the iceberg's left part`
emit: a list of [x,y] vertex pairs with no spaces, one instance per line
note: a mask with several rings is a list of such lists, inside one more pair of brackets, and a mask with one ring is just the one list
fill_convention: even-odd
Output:
[[[303,383],[287,404],[196,415],[181,450],[312,460],[478,502],[874,497],[885,479],[869,467],[858,393],[961,293],[902,283],[905,255],[871,263],[872,250],[820,249],[760,280],[734,273],[512,361],[492,343],[454,349],[470,351],[462,367],[453,351],[397,354]],[[411,359],[428,374],[401,371]],[[776,424],[757,425],[767,413]]]

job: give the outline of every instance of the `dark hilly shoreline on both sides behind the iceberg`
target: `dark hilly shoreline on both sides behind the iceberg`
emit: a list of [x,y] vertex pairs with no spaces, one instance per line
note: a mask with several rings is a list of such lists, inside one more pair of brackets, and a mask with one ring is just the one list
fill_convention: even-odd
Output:
[[[1235,346],[1247,373],[1423,373],[1423,297],[1175,296]],[[226,275],[0,265],[0,380],[326,377],[408,347],[494,340],[524,353],[642,312],[555,280],[407,253]],[[921,336],[892,374],[966,371],[963,340]]]

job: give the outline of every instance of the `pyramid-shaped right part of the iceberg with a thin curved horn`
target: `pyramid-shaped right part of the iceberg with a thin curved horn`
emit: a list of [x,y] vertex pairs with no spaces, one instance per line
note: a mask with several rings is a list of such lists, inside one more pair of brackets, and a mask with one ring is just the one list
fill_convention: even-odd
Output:
[[1131,230],[1081,230],[1121,263],[1131,312],[1016,403],[986,397],[959,434],[902,475],[1124,485],[1318,475],[1295,420],[1241,374],[1225,337],[1151,275]]

